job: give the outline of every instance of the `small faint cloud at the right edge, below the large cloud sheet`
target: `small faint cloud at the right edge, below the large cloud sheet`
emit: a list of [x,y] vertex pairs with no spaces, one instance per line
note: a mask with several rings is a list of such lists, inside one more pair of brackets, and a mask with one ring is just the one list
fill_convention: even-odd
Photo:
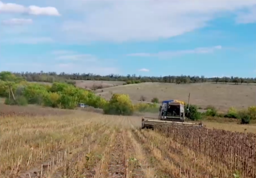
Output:
[[236,23],[238,24],[249,24],[256,22],[256,6],[251,8],[247,13],[238,13]]

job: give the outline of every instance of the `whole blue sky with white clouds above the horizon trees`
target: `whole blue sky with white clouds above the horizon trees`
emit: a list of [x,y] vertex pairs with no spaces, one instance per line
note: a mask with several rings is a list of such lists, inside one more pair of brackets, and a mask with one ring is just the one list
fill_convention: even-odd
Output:
[[0,71],[256,77],[256,0],[0,0]]

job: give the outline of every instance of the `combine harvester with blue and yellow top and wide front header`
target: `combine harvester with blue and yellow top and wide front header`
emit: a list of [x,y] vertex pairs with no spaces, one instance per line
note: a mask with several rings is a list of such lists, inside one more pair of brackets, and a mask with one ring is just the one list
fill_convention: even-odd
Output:
[[156,126],[166,125],[203,127],[202,123],[187,122],[188,119],[185,117],[184,105],[184,102],[178,100],[163,101],[159,108],[158,118],[143,117],[141,128],[154,129]]

